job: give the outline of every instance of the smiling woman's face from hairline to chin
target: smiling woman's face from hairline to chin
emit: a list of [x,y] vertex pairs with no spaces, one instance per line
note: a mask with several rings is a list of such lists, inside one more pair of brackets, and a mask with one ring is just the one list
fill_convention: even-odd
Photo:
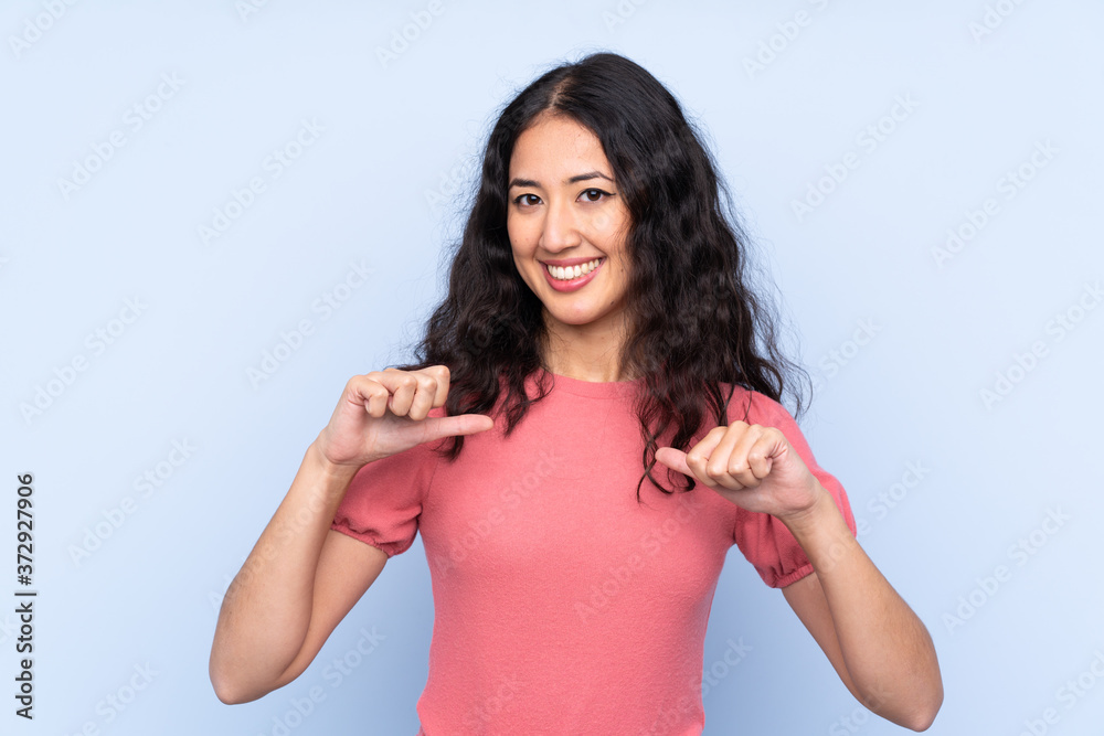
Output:
[[630,217],[613,177],[597,137],[565,116],[539,116],[510,157],[513,263],[563,338],[624,328]]

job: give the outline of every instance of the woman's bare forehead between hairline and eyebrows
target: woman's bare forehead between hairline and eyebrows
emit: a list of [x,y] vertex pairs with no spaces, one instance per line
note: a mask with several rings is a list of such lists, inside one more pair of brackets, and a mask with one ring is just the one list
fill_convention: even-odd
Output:
[[[602,141],[588,128],[563,115],[541,115],[518,136],[510,156],[510,177],[541,179],[539,171],[556,175],[602,171],[613,175]],[[528,175],[534,174],[534,175]]]

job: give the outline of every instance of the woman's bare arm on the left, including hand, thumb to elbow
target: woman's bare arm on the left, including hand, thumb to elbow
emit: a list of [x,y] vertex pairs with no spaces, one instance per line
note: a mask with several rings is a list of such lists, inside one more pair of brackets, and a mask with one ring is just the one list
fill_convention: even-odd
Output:
[[221,701],[253,701],[299,676],[383,569],[385,553],[330,530],[360,468],[493,426],[476,414],[428,417],[447,393],[444,365],[386,369],[346,385],[223,599],[210,661]]

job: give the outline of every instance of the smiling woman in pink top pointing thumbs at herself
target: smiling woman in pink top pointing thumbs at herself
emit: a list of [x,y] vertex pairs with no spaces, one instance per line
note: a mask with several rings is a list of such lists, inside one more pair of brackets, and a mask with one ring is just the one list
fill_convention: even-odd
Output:
[[595,54],[506,107],[418,356],[350,380],[308,448],[223,604],[221,700],[298,676],[421,530],[425,736],[700,734],[732,544],[856,697],[932,723],[931,638],[778,403],[713,166],[645,70]]

